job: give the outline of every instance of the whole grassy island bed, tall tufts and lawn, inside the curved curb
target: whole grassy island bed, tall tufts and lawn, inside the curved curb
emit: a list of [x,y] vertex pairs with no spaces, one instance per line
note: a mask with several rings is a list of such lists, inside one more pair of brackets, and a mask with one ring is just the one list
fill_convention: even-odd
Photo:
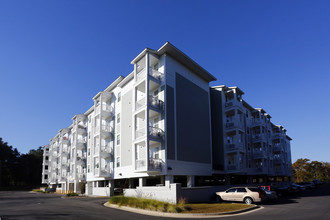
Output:
[[140,208],[146,210],[153,210],[159,212],[170,213],[218,213],[218,212],[232,212],[249,207],[253,205],[236,204],[236,203],[200,203],[200,204],[185,204],[183,201],[178,204],[170,204],[167,202],[160,202],[153,199],[134,198],[125,196],[114,196],[109,200],[110,204],[119,206],[129,206],[133,208]]

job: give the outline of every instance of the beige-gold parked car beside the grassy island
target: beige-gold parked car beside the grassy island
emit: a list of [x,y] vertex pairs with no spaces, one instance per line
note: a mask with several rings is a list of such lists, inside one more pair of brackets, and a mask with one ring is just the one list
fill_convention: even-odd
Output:
[[258,187],[232,187],[216,193],[218,200],[244,202],[252,204],[266,200],[266,193]]

